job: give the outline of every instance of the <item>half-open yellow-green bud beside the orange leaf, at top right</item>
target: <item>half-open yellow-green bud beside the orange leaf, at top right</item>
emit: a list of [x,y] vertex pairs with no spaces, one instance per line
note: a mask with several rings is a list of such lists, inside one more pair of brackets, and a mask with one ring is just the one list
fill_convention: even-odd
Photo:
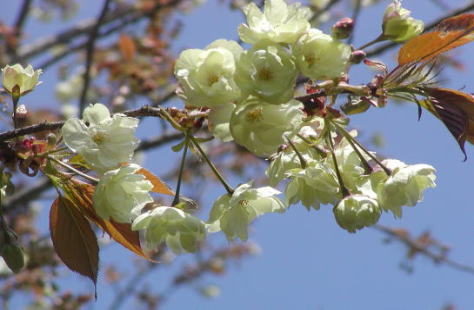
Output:
[[410,13],[402,8],[398,0],[389,4],[383,16],[383,37],[394,42],[403,42],[422,33],[423,21],[410,17]]

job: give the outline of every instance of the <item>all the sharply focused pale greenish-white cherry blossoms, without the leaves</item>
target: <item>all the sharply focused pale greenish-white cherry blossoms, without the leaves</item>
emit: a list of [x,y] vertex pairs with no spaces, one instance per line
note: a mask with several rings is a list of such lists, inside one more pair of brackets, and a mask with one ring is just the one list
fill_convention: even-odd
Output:
[[[301,79],[335,86],[347,81],[348,68],[357,62],[357,51],[343,41],[348,23],[325,34],[311,27],[309,8],[283,0],[266,0],[263,11],[250,3],[243,12],[247,20],[238,34],[249,49],[220,39],[204,49],[183,51],[174,71],[180,85],[177,93],[188,111],[207,113],[215,137],[270,159],[269,186],[256,188],[248,181],[234,189],[209,161],[227,193],[215,200],[207,221],[180,208],[179,199],[156,205],[152,182],[132,160],[139,120],[111,115],[105,105],[96,103],[83,111],[82,119],[70,118],[61,129],[67,148],[97,176],[96,213],[131,224],[143,232],[149,248],[165,242],[181,253],[196,251],[210,232],[246,240],[248,226],[257,217],[285,212],[300,202],[308,210],[332,206],[336,222],[355,232],[377,223],[383,212],[400,217],[402,207],[421,201],[424,190],[435,186],[433,167],[379,159],[347,129],[348,119],[332,108],[335,102],[311,110],[294,97]],[[419,34],[422,22],[409,15],[399,1],[390,4],[379,39],[401,42]],[[31,66],[7,66],[3,86],[17,102],[38,84],[40,73]],[[311,87],[307,90],[311,93]],[[183,158],[191,145],[205,156],[202,142],[189,129],[182,131]],[[275,188],[280,185],[285,188],[281,199]],[[179,189],[176,192],[179,198]]]

